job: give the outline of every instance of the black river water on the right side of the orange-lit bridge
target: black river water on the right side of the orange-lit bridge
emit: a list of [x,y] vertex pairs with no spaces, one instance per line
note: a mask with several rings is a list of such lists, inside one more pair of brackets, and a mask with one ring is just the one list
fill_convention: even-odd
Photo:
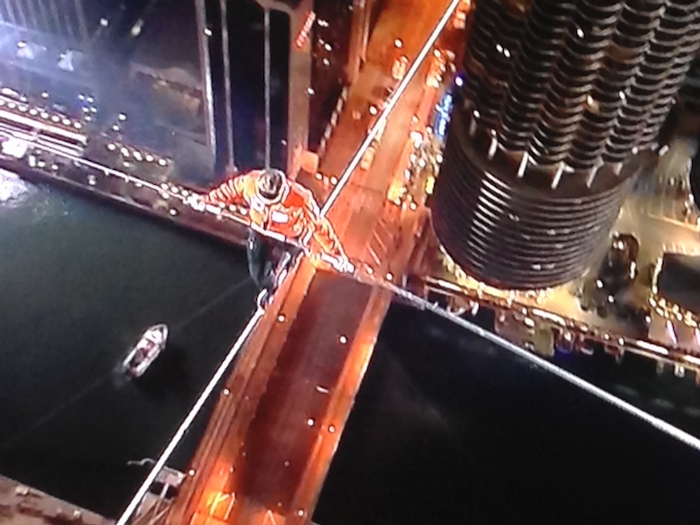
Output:
[[[567,368],[698,434],[691,381]],[[395,306],[321,495],[323,525],[697,523],[700,454],[443,319]]]

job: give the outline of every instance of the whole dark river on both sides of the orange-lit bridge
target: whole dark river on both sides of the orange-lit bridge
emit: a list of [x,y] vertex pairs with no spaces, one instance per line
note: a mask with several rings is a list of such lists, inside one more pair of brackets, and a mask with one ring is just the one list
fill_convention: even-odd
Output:
[[[244,253],[0,173],[0,473],[115,517],[252,311]],[[172,330],[138,382],[113,370]],[[700,435],[692,378],[557,361]],[[201,423],[171,465],[185,468]],[[693,523],[700,456],[465,333],[393,306],[331,467],[322,525]]]

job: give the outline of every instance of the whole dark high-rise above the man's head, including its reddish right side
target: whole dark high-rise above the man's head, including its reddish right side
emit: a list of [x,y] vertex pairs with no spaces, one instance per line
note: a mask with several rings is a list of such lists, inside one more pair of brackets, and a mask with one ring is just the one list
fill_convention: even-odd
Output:
[[[370,0],[194,0],[217,172],[264,161],[264,8],[270,9],[271,163],[291,176],[359,68]],[[320,132],[319,132],[320,130]],[[312,144],[309,144],[309,135]],[[317,141],[317,140],[316,140]]]

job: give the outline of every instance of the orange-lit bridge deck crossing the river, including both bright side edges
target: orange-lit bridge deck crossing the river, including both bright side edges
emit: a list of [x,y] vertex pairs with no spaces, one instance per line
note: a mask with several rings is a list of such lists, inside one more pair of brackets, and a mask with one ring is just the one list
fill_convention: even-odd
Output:
[[210,421],[172,523],[308,520],[389,300],[352,279],[300,269],[278,314],[285,320],[246,350],[249,357],[263,345],[252,371],[243,363],[229,378],[231,394],[215,412],[233,417]]

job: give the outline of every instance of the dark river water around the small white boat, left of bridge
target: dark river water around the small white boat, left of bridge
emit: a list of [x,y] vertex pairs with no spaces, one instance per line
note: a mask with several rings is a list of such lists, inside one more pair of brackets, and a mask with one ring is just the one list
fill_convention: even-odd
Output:
[[[245,254],[4,173],[0,253],[0,473],[114,516],[252,312]],[[156,322],[167,350],[121,380]]]

